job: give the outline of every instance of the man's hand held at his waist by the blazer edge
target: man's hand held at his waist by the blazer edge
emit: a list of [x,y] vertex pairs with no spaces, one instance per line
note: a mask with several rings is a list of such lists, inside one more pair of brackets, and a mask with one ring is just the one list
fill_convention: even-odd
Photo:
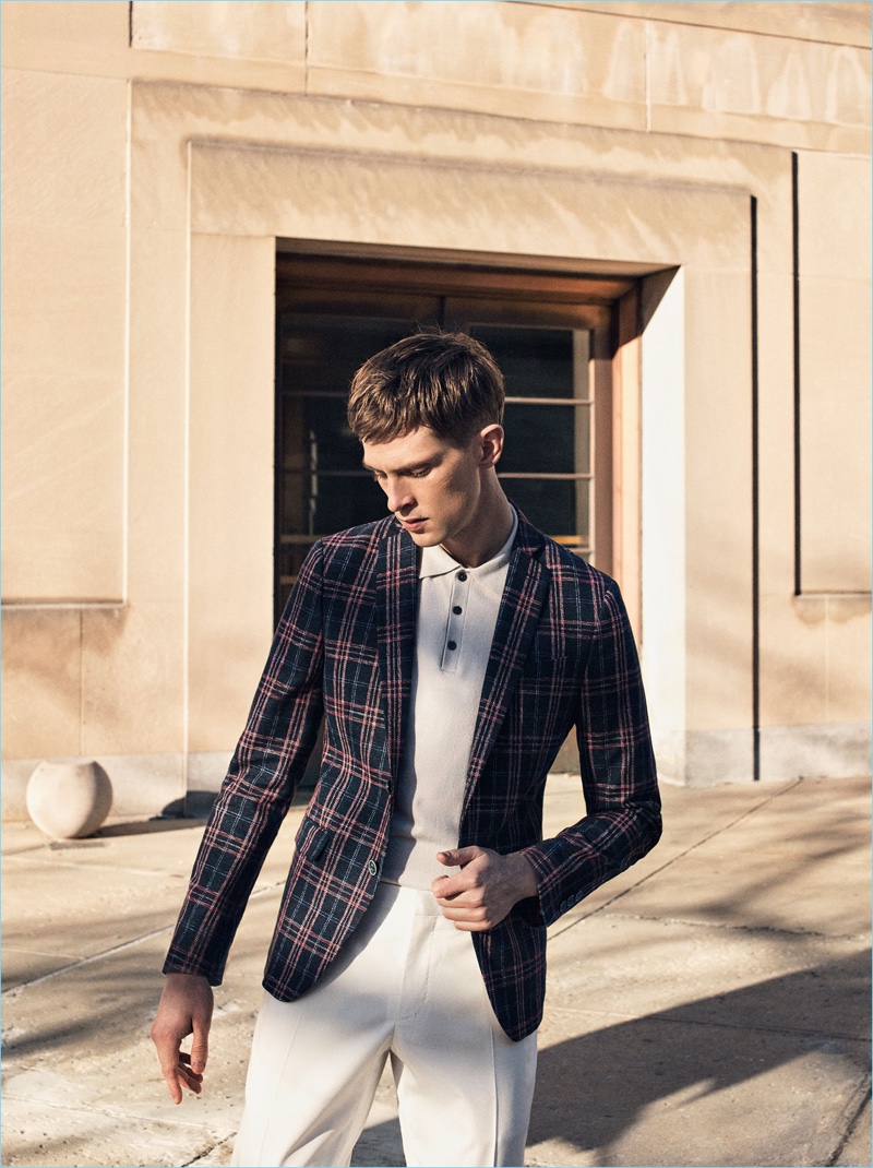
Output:
[[461,868],[454,876],[438,876],[431,887],[442,916],[465,932],[494,929],[514,904],[537,895],[533,868],[519,851],[502,856],[490,848],[455,848],[438,851],[436,858]]

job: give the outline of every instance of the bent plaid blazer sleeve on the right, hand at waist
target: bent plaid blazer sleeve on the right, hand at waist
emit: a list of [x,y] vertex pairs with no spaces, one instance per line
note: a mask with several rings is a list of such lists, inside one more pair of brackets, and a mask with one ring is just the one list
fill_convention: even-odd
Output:
[[661,837],[661,799],[640,661],[617,584],[609,580],[579,696],[584,819],[524,849],[551,924],[629,868]]

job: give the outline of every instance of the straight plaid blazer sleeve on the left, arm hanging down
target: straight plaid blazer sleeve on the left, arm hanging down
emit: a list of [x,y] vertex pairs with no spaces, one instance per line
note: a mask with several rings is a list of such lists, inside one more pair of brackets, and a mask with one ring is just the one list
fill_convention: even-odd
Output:
[[322,559],[307,556],[194,863],[165,973],[221,983],[246,902],[291,806],[322,714]]

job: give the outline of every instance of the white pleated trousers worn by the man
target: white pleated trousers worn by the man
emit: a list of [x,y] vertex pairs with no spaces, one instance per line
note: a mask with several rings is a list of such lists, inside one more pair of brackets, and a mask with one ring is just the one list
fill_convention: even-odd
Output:
[[265,993],[232,1163],[348,1164],[389,1056],[407,1164],[524,1164],[537,1036],[507,1037],[470,934],[392,884],[309,993]]

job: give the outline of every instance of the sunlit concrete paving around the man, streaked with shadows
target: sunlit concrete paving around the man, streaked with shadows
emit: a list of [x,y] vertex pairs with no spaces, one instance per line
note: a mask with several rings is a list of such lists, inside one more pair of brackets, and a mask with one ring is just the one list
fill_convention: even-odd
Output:
[[[529,1164],[869,1164],[867,780],[664,790],[644,861],[551,930]],[[582,812],[549,783],[549,832]],[[148,1027],[203,823],[4,828],[5,1164],[226,1164],[302,808],[235,944],[207,1089]],[[401,1164],[383,1080],[356,1164]]]

